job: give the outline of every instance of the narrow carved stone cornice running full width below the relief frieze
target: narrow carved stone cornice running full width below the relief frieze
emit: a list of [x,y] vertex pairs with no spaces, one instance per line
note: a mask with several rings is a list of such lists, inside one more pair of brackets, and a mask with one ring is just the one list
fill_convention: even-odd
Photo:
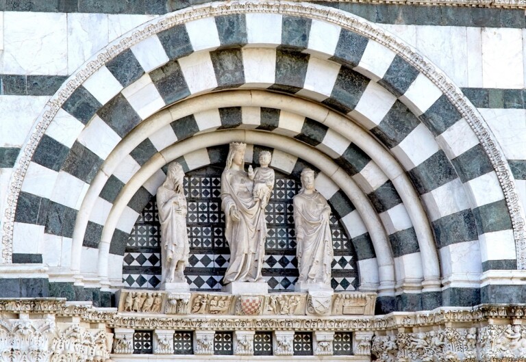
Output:
[[[526,320],[526,305],[478,305],[473,308],[443,307],[433,311],[394,312],[375,316],[305,315],[166,315],[117,312],[114,308],[71,304],[64,298],[3,299],[0,311],[47,313],[77,317],[83,322],[104,323],[111,328],[177,329],[212,331],[391,331],[399,328],[447,326],[448,324],[503,324]],[[500,320],[500,322],[496,322]]]

